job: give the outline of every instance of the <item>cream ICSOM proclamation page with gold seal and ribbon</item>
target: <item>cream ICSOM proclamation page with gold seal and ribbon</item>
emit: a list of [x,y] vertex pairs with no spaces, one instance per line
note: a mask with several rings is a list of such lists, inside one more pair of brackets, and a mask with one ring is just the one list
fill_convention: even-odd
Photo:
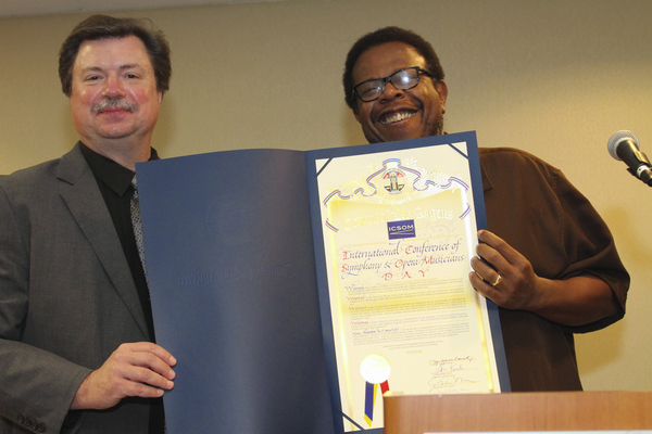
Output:
[[381,427],[387,391],[501,391],[499,324],[468,280],[478,216],[485,225],[475,132],[429,139],[355,146],[364,153],[308,167],[316,174],[322,312],[344,432]]

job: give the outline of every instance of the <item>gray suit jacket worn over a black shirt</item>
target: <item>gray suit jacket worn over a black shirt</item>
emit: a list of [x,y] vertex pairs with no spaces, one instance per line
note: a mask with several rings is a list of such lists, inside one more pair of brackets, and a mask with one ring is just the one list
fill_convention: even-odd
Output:
[[66,420],[86,375],[139,341],[136,286],[79,144],[0,177],[0,433],[147,433],[140,399]]

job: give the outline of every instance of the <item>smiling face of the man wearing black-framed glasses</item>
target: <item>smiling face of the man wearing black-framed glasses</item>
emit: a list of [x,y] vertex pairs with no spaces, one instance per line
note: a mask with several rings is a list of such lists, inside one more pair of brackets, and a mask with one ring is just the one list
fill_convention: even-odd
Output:
[[[399,69],[419,66],[426,61],[416,49],[404,42],[374,46],[358,58],[353,67],[353,84],[390,76]],[[418,85],[398,90],[390,82],[376,101],[358,99],[355,119],[369,143],[418,139],[441,133],[441,118],[446,112],[448,88],[443,80],[437,85],[425,74]]]

